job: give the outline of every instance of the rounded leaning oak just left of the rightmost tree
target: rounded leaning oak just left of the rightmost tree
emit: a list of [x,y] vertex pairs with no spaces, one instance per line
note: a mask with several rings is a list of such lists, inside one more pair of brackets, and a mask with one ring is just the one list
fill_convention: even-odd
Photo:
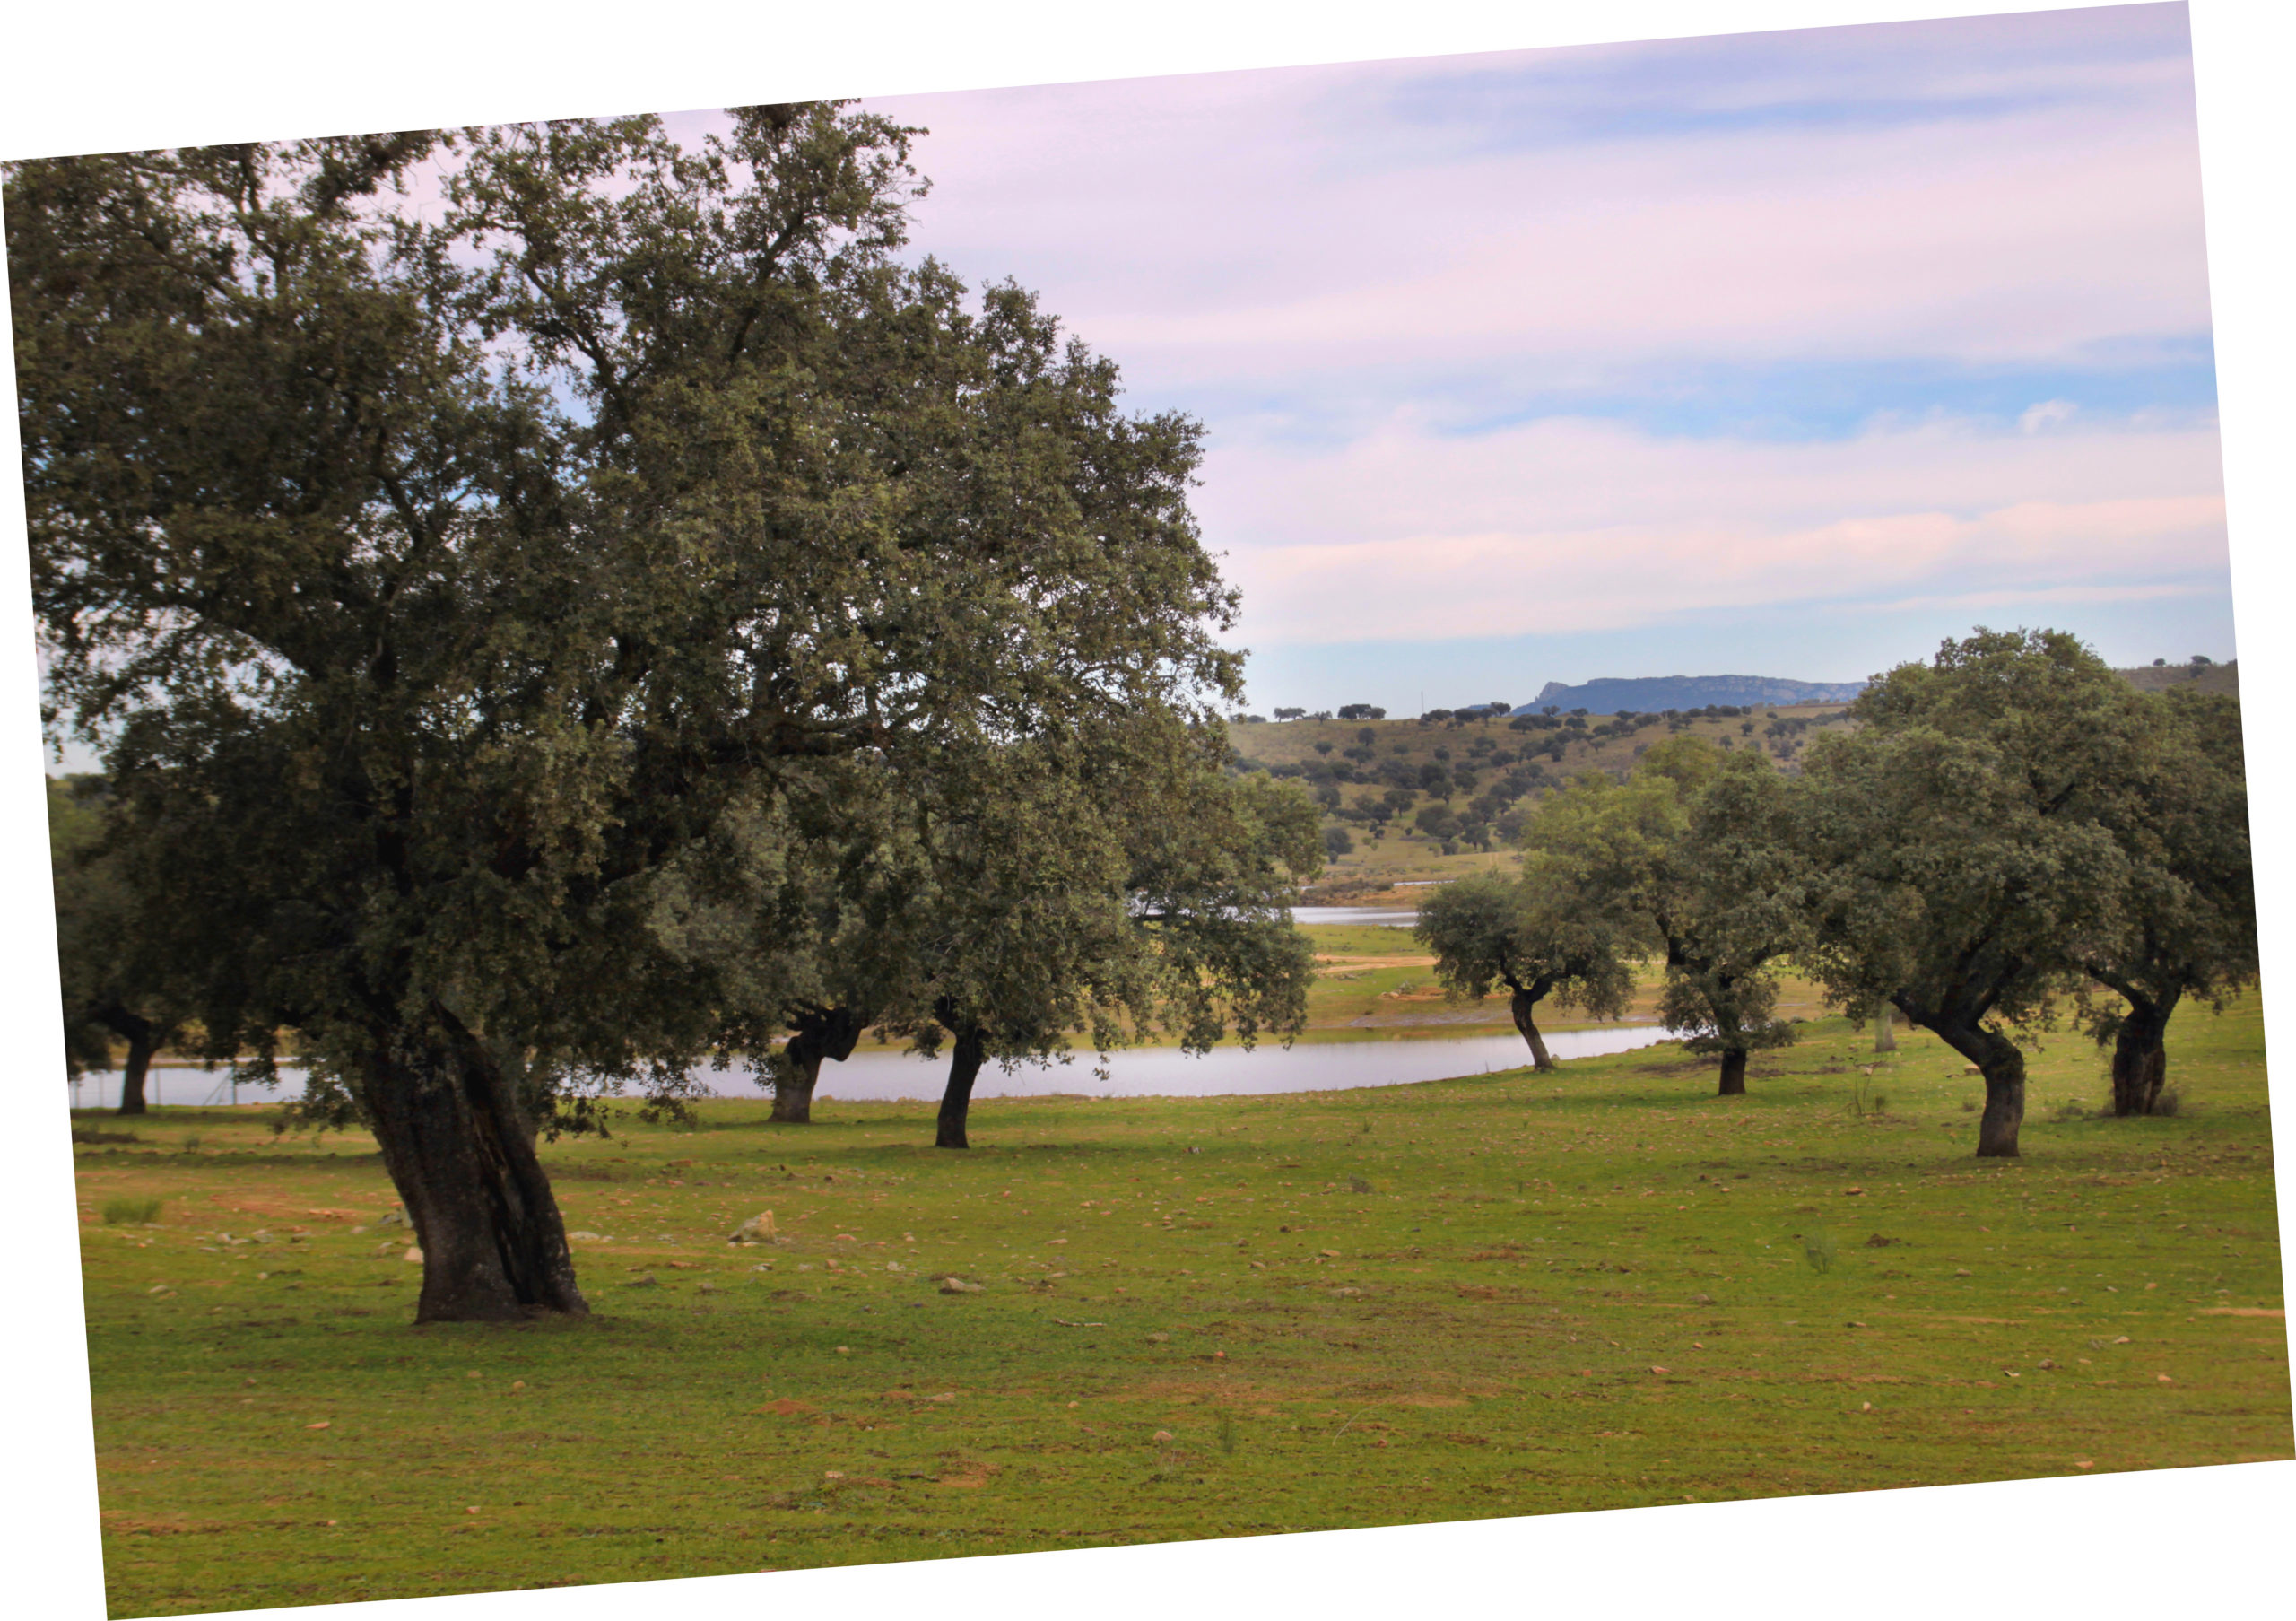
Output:
[[1805,767],[1814,962],[1885,996],[1986,1081],[1979,1157],[2018,1153],[2023,1045],[2126,939],[2135,785],[2156,712],[2064,631],[1988,631],[1903,664]]

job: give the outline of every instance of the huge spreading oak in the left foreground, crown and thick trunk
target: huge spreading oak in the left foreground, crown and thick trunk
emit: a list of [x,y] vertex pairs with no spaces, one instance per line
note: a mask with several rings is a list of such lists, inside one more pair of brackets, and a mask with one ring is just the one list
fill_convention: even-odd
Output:
[[535,1130],[767,999],[680,918],[801,859],[792,781],[1238,691],[1196,425],[895,259],[914,133],[7,170],[48,703],[204,1052],[292,1026],[374,1130],[422,1320],[585,1309]]

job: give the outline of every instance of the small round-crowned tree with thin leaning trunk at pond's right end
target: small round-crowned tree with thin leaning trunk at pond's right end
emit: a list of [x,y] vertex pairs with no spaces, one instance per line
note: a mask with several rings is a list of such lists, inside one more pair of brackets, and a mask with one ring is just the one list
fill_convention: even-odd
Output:
[[1635,987],[1605,907],[1550,863],[1531,863],[1520,877],[1453,879],[1419,907],[1412,932],[1435,953],[1435,978],[1451,999],[1481,1001],[1495,985],[1506,987],[1506,1010],[1541,1072],[1557,1068],[1538,1033],[1541,1001],[1614,1019]]

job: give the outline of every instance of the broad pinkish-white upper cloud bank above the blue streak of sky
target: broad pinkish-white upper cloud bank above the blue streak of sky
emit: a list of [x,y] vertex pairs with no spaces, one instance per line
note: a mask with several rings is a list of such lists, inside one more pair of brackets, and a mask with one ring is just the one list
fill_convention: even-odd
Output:
[[2206,331],[2197,135],[2174,41],[2082,55],[2069,16],[884,108],[934,131],[918,243],[1042,287],[1157,397],[1460,363],[1543,388],[1756,358],[2096,365]]

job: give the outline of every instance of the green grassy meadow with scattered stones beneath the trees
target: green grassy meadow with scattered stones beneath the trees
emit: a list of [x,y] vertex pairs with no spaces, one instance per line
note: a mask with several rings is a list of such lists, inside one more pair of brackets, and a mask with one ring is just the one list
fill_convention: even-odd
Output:
[[[80,1148],[113,1612],[2291,1453],[2252,999],[2179,1017],[2170,1120],[2076,1116],[2050,1040],[2020,1162],[1933,1040],[1869,1045],[1740,1100],[1662,1047],[985,1102],[967,1155],[928,1104],[712,1104],[546,1148],[597,1316],[519,1329],[409,1327],[367,1139],[165,1109]],[[161,1226],[94,1224],[126,1196]]]

